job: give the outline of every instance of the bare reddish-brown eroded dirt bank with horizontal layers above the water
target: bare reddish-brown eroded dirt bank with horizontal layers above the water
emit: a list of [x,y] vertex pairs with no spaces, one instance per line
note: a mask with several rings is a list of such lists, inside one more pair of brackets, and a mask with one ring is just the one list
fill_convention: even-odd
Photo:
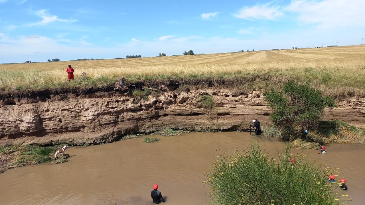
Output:
[[[200,96],[212,96],[215,108],[201,107]],[[164,89],[135,103],[127,90],[29,92],[0,95],[0,146],[7,144],[107,143],[136,132],[163,128],[199,130],[247,129],[257,118],[269,124],[270,109],[258,90],[234,95],[231,89]],[[326,114],[365,127],[365,98],[350,98]]]

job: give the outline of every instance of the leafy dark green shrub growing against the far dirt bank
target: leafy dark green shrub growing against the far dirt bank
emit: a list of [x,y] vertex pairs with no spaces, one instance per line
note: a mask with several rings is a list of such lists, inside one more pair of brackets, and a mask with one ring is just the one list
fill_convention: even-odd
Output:
[[[298,84],[290,80],[280,92],[271,90],[265,93],[265,101],[273,110],[270,120],[285,128],[293,136],[300,135],[304,129],[314,128],[323,118],[324,109],[336,108],[333,97],[326,96],[321,90],[312,88],[310,80]],[[292,137],[293,137],[292,136]]]

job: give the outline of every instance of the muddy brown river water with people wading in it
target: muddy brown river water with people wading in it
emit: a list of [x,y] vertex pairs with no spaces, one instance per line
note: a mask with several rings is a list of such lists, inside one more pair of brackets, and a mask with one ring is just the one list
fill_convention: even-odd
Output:
[[[128,205],[152,205],[150,191],[154,183],[173,205],[207,205],[203,187],[204,171],[210,169],[219,151],[232,153],[247,148],[251,142],[261,143],[270,154],[283,151],[276,139],[258,138],[246,132],[187,133],[173,137],[158,136],[160,141],[144,143],[143,138],[129,139],[89,147],[71,147],[69,162],[54,165],[20,167],[0,174],[1,205],[101,205],[110,194],[130,199]],[[254,140],[254,141],[252,141]],[[338,177],[345,178],[351,205],[365,202],[365,146],[330,144],[328,153],[293,150],[307,154],[311,160],[328,167],[340,168]],[[347,197],[350,198],[350,197]]]

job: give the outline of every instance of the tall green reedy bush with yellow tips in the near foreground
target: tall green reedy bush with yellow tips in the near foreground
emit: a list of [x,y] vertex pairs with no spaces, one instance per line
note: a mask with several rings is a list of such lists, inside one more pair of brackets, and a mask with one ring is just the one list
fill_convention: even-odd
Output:
[[[249,150],[220,155],[205,173],[212,203],[237,204],[339,204],[328,174],[307,158],[290,154],[290,147],[273,158],[260,152],[259,145]],[[291,158],[295,163],[289,162]]]

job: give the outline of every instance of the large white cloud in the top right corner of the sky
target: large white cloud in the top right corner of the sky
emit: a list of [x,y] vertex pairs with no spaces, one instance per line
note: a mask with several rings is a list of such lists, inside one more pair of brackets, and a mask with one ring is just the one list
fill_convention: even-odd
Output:
[[364,0],[293,0],[285,11],[297,13],[302,23],[318,28],[365,27]]

